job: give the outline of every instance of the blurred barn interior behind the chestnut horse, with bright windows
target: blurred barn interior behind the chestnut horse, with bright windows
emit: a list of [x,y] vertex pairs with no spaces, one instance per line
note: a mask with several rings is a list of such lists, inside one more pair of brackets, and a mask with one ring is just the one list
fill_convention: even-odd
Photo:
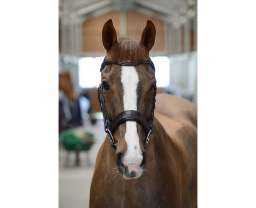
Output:
[[89,207],[90,183],[106,133],[97,100],[105,51],[102,27],[139,41],[156,27],[150,52],[158,93],[197,103],[196,0],[59,1],[59,207]]

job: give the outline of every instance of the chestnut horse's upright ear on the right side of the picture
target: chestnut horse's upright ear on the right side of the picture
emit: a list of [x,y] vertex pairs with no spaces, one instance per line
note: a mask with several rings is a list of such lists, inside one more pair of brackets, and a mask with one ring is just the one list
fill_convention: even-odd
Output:
[[141,44],[149,52],[155,44],[155,25],[152,21],[148,20],[147,26],[143,30],[141,36]]

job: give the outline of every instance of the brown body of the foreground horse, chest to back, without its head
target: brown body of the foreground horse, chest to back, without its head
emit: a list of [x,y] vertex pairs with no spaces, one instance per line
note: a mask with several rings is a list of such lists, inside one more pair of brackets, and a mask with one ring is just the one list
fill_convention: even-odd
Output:
[[113,171],[115,150],[106,138],[98,152],[90,207],[197,206],[197,107],[182,98],[156,97],[147,166],[138,179]]

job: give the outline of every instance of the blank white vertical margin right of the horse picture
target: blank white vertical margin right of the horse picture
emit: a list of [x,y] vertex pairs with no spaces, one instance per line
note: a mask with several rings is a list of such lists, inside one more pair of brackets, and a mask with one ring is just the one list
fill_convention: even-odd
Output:
[[256,207],[255,4],[198,3],[198,207]]

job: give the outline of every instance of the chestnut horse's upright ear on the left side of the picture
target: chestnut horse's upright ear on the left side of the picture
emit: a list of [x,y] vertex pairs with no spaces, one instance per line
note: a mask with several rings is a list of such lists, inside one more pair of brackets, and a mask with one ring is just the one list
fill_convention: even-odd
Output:
[[109,51],[110,48],[117,42],[117,32],[113,26],[112,20],[109,19],[102,29],[102,43],[106,51]]

